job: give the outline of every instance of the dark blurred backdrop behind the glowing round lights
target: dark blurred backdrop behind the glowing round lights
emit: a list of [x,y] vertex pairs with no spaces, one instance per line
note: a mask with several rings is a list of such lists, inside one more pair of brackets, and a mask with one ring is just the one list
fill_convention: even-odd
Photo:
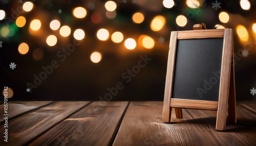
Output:
[[[25,1],[24,1],[25,2]],[[23,2],[23,3],[24,3]],[[256,88],[256,34],[252,31],[253,23],[256,23],[255,1],[250,1],[251,8],[243,10],[240,1],[218,1],[221,8],[215,10],[212,3],[216,1],[200,1],[201,7],[191,9],[187,7],[185,1],[174,1],[175,6],[171,9],[163,7],[159,0],[136,0],[117,3],[117,15],[114,19],[105,16],[104,3],[106,1],[34,1],[34,8],[30,12],[20,15],[26,17],[27,22],[23,28],[18,28],[14,22],[0,20],[0,30],[5,27],[12,27],[16,33],[14,36],[2,37],[3,47],[0,48],[0,89],[8,86],[13,90],[10,101],[99,101],[99,96],[107,96],[112,101],[162,101],[164,95],[165,75],[167,66],[169,36],[171,31],[192,30],[195,23],[206,23],[207,29],[215,29],[216,25],[234,29],[234,53],[236,54],[236,93],[238,101],[255,101],[256,94],[250,94],[250,89]],[[134,1],[133,1],[134,2]],[[12,12],[17,10],[18,1],[0,1],[0,9],[7,13],[8,18],[12,18]],[[94,3],[95,8],[89,9],[88,4]],[[77,19],[72,15],[75,7],[84,7],[87,16]],[[203,7],[202,7],[203,6]],[[62,13],[58,13],[61,9]],[[222,23],[219,20],[219,13],[225,11],[229,14],[229,21]],[[95,24],[91,21],[94,12],[101,14],[102,20]],[[144,21],[136,24],[132,21],[135,12],[144,14]],[[176,24],[178,15],[187,17],[185,27]],[[150,23],[156,15],[162,15],[166,23],[158,32],[150,28]],[[41,20],[39,33],[29,32],[29,23],[33,19]],[[57,31],[49,28],[49,23],[53,19],[59,19],[61,26],[71,27],[69,37],[61,37]],[[241,41],[236,33],[236,27],[243,25],[248,31],[248,41]],[[63,47],[73,43],[73,32],[77,28],[83,29],[86,33],[80,45],[78,45],[65,61],[56,56],[57,52]],[[124,47],[124,40],[121,43],[114,43],[109,38],[107,41],[100,41],[96,37],[96,32],[100,28],[108,29],[110,35],[115,31],[120,31],[126,38],[134,38],[138,41],[140,35],[148,35],[155,40],[155,46],[151,50],[137,46],[134,50],[127,50]],[[1,33],[1,32],[0,32]],[[58,38],[55,46],[50,47],[46,44],[46,37],[54,34]],[[158,42],[160,37],[165,38],[162,44]],[[29,52],[26,55],[18,53],[18,45],[26,42],[29,45]],[[250,42],[251,45],[247,45]],[[248,57],[243,57],[241,51],[246,46],[249,47]],[[35,60],[32,57],[35,48],[42,48],[44,57]],[[100,52],[102,60],[93,63],[90,55],[93,52]],[[138,65],[140,56],[151,58],[145,67],[140,68],[131,81],[122,75],[127,69],[132,69]],[[26,92],[27,83],[33,83],[34,75],[39,75],[43,71],[42,66],[48,66],[53,60],[59,64],[53,69],[47,79],[42,80],[37,88],[32,92]],[[15,69],[11,69],[9,64],[14,62]],[[127,75],[127,74],[126,74]],[[110,97],[108,88],[113,88],[116,83],[122,83],[122,89],[118,90],[115,96]]]

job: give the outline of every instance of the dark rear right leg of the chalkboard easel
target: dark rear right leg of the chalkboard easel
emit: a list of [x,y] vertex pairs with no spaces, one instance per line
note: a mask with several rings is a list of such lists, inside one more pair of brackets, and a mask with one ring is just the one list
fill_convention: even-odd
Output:
[[[233,59],[233,56],[232,56]],[[228,122],[237,123],[236,86],[234,82],[234,62],[230,71],[229,97],[228,97]]]

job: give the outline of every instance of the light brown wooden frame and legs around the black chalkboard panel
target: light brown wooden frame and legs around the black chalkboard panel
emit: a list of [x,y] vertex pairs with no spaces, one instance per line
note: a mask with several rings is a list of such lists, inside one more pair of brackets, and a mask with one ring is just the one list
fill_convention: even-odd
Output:
[[[213,102],[200,100],[172,99],[177,40],[200,38],[223,38],[219,100],[218,102]],[[229,122],[236,123],[237,117],[236,93],[234,85],[234,64],[231,66],[231,60],[233,59],[234,58],[232,29],[172,32],[170,34],[170,45],[168,52],[168,63],[166,71],[166,82],[162,114],[162,120],[164,121],[164,123],[170,122],[170,113],[172,111],[172,108],[175,108],[175,114],[177,118],[182,118],[181,108],[217,110],[217,131],[225,130],[227,109],[229,115]]]

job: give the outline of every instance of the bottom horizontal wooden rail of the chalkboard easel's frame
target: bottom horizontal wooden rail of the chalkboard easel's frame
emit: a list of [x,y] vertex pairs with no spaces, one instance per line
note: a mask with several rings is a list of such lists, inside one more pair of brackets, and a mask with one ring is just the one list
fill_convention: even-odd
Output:
[[205,110],[217,110],[218,102],[171,99],[170,100],[170,107],[190,108],[190,109],[205,109]]

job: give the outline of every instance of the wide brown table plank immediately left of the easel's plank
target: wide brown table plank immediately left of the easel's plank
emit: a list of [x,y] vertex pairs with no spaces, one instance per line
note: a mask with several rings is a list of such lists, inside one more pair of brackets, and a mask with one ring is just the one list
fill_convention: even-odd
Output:
[[129,102],[93,102],[29,145],[110,145]]

